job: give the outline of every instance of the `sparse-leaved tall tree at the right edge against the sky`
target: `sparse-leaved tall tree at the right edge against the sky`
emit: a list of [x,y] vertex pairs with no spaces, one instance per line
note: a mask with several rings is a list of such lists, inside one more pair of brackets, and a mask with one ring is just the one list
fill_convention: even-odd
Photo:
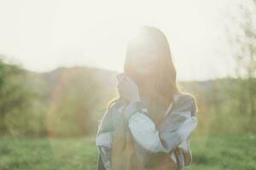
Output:
[[238,15],[232,17],[232,28],[236,34],[230,35],[230,44],[236,61],[236,89],[238,107],[243,116],[251,120],[252,127],[256,115],[256,0],[238,5]]

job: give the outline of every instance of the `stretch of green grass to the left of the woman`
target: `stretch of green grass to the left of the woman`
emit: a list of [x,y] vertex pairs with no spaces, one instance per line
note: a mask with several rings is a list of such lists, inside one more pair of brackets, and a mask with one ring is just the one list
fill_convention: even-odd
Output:
[[96,169],[93,138],[0,139],[1,170]]

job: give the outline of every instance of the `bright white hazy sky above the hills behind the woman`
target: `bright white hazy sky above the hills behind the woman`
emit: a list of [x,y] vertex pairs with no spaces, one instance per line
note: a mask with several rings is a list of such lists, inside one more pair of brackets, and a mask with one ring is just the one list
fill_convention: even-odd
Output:
[[226,38],[231,0],[0,0],[0,54],[30,71],[90,66],[123,71],[139,26],[170,43],[178,81],[234,75]]

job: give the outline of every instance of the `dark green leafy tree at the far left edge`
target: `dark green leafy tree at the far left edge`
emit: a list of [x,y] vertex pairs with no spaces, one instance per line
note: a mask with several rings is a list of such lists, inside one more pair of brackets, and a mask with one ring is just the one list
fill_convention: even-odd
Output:
[[32,93],[25,86],[25,71],[18,65],[3,63],[0,55],[0,135],[23,135]]

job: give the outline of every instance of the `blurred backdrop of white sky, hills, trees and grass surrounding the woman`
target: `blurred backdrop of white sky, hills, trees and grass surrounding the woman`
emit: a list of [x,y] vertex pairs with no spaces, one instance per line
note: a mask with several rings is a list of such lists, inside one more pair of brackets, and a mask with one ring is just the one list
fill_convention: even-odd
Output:
[[256,169],[256,1],[0,0],[0,169],[96,169],[139,26],[170,42],[199,124],[188,170]]

